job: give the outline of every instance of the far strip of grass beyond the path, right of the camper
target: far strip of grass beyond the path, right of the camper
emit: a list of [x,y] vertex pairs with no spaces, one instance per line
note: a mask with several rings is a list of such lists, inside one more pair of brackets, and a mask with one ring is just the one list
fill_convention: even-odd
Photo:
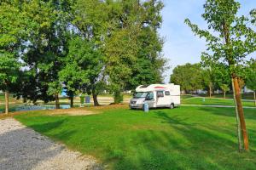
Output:
[[[193,97],[181,100],[184,105],[234,105],[233,99],[214,99],[214,98],[203,98]],[[242,101],[244,106],[254,106],[253,101]]]

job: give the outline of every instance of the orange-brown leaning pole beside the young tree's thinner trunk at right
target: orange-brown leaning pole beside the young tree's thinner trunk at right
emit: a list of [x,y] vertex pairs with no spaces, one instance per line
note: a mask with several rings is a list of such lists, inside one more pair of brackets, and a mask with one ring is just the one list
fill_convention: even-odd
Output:
[[244,144],[244,150],[249,150],[249,142],[248,142],[248,136],[247,136],[247,127],[246,122],[244,119],[244,113],[242,109],[241,104],[241,92],[239,87],[239,80],[238,77],[232,77],[234,81],[234,88],[235,88],[235,94],[236,94],[236,107],[240,119],[240,126],[241,126],[241,134],[243,137],[243,144]]

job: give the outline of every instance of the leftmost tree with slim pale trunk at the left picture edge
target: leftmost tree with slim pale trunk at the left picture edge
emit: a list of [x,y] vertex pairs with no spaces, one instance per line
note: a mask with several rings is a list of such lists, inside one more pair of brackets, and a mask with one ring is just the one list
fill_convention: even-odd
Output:
[[18,1],[0,3],[0,90],[5,92],[5,113],[9,113],[9,91],[20,71],[19,53],[26,32],[24,11]]

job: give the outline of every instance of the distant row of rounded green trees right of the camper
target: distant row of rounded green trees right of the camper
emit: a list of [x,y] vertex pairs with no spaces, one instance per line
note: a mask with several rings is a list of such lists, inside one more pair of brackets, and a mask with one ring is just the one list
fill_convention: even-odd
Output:
[[[239,79],[240,88],[246,86],[253,90],[254,100],[256,93],[256,60],[251,59],[243,65],[243,77]],[[226,92],[232,89],[230,74],[223,64],[214,67],[203,67],[201,64],[177,65],[173,69],[170,82],[180,84],[186,93],[196,93],[197,90],[207,90],[209,97],[212,91],[221,89],[224,98]],[[255,104],[256,105],[256,104]]]

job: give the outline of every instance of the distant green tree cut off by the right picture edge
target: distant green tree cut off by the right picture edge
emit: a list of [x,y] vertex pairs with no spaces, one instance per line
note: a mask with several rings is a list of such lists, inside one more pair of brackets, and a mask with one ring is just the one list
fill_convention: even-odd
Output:
[[256,60],[249,62],[246,86],[253,90],[254,105],[256,106]]

